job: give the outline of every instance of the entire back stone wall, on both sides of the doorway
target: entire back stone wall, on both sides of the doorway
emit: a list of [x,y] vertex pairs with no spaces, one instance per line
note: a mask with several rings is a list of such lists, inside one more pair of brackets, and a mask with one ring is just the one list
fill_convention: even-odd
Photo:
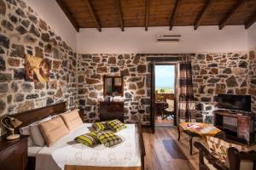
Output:
[[[182,54],[180,54],[182,55]],[[193,87],[197,108],[204,122],[212,122],[218,94],[251,94],[255,102],[255,52],[191,54]],[[80,54],[78,99],[84,119],[98,119],[98,102],[103,99],[103,76],[124,76],[126,122],[149,123],[150,71],[146,57],[162,54]],[[165,55],[168,56],[168,55]],[[170,55],[171,56],[171,55]],[[251,88],[248,88],[248,87]],[[253,103],[252,102],[252,103]],[[252,106],[255,110],[255,104]]]

